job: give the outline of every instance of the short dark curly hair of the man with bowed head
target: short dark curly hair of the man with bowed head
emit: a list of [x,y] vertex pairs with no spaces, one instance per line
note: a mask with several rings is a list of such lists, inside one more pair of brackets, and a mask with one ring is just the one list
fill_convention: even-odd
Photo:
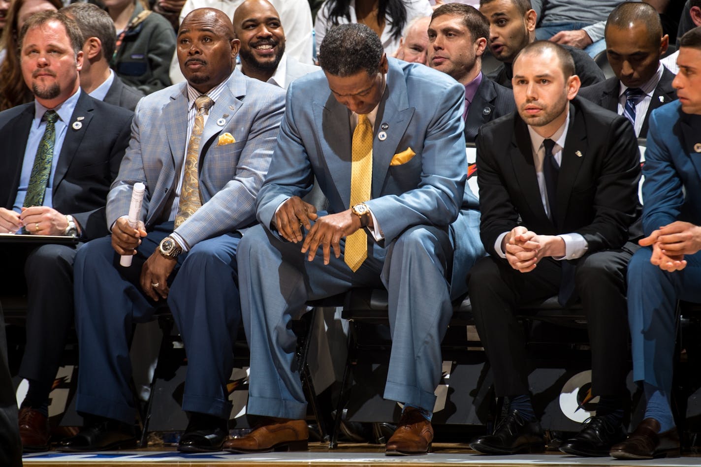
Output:
[[384,53],[377,34],[357,22],[334,26],[319,47],[319,65],[334,76],[350,76],[360,70],[376,74]]

